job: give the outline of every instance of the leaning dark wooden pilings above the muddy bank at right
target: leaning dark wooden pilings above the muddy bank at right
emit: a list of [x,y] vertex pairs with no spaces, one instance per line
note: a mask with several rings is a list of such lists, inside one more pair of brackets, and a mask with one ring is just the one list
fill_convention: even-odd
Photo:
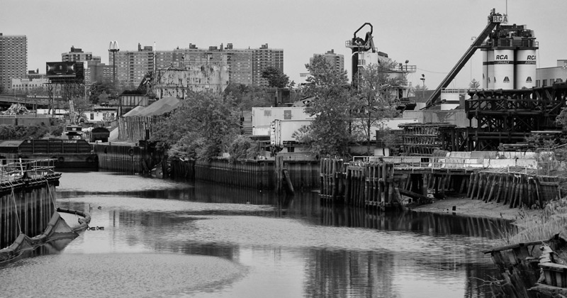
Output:
[[543,208],[549,200],[561,197],[556,177],[522,172],[479,171],[471,174],[467,197],[515,207]]

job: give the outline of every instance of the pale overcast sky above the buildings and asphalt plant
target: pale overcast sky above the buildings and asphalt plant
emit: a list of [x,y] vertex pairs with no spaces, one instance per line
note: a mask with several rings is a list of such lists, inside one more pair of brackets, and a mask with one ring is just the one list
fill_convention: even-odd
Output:
[[[111,40],[122,50],[154,42],[157,50],[268,43],[283,48],[283,72],[298,82],[309,57],[331,49],[344,55],[350,75],[344,42],[368,22],[376,48],[398,62],[410,60],[417,65],[410,82],[422,84],[424,74],[434,89],[485,28],[490,9],[505,13],[506,6],[510,23],[535,31],[538,67],[567,59],[566,0],[2,0],[0,32],[27,35],[28,70],[40,72],[72,45],[108,63]],[[478,51],[449,87],[480,80],[481,59]]]

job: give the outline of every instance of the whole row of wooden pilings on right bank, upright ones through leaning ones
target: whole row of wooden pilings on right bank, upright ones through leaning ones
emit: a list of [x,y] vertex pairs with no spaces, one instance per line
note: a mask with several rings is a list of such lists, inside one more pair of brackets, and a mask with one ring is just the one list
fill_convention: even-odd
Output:
[[[506,172],[504,172],[506,171]],[[510,208],[543,208],[546,202],[561,198],[557,177],[503,170],[396,170],[384,162],[321,160],[320,197],[352,206],[403,206],[401,194],[430,201],[427,194],[444,198],[446,191],[465,194],[471,199],[496,202]],[[423,202],[422,202],[423,203]]]

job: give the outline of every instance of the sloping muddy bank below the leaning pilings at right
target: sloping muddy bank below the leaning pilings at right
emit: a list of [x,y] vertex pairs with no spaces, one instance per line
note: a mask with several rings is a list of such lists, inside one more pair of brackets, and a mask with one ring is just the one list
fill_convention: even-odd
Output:
[[[453,211],[455,206],[455,211]],[[481,216],[493,219],[507,219],[511,221],[524,220],[537,216],[541,210],[510,208],[502,202],[483,202],[468,197],[450,197],[447,199],[434,199],[432,204],[412,207],[413,211],[432,212],[437,214],[456,214],[461,216]]]

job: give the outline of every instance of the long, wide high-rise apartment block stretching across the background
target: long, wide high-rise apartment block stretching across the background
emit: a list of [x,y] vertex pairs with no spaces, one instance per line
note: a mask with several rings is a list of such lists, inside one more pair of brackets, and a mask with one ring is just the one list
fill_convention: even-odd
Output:
[[[109,54],[109,60],[112,61],[112,54]],[[226,67],[229,82],[267,87],[262,70],[269,66],[283,70],[283,50],[270,49],[268,44],[259,49],[235,49],[232,43],[208,48],[197,48],[190,43],[189,48],[158,50],[154,53],[152,47],[142,48],[138,44],[137,51],[120,50],[116,53],[116,79],[135,87],[154,67],[164,69],[196,65]]]

